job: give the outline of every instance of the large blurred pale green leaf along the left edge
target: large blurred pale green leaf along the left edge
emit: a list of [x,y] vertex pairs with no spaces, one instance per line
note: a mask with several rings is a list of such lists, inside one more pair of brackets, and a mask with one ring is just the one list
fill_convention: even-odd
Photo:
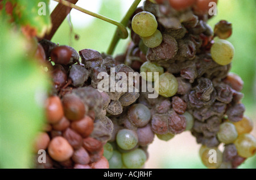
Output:
[[47,76],[26,56],[27,40],[1,20],[0,168],[31,168],[32,142],[44,122]]

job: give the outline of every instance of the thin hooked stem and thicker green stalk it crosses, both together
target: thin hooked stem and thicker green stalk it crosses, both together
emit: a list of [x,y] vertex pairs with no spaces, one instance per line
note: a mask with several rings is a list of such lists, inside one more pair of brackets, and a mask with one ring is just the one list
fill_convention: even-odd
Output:
[[109,55],[113,54],[114,49],[115,49],[115,47],[116,47],[116,45],[117,45],[117,43],[120,39],[126,39],[128,37],[128,31],[126,29],[127,23],[129,21],[131,15],[135,11],[135,9],[137,8],[139,3],[141,2],[141,0],[135,0],[133,2],[133,4],[131,5],[131,7],[129,8],[129,10],[126,12],[126,15],[123,17],[123,19],[119,23],[119,22],[117,22],[113,19],[110,19],[110,18],[106,17],[106,16],[103,16],[103,15],[85,10],[82,7],[77,6],[77,5],[75,5],[71,2],[68,2],[68,1],[65,1],[65,0],[53,0],[53,1],[59,2],[59,3],[63,4],[64,6],[71,7],[73,9],[79,10],[81,12],[84,12],[85,14],[94,16],[95,18],[104,20],[106,22],[109,22],[109,23],[114,24],[115,26],[117,26],[117,30],[115,30],[115,34],[113,36],[113,39],[112,39],[112,41],[110,43],[110,46],[108,48],[108,51],[107,51],[107,53]]

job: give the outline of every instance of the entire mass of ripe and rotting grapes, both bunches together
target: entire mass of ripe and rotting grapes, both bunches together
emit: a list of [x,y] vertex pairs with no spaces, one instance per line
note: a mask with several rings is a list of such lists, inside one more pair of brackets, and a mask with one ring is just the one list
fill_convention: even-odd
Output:
[[[46,124],[34,142],[35,153],[46,150],[47,163],[40,164],[36,155],[36,168],[143,168],[155,135],[169,141],[184,131],[201,144],[207,168],[237,168],[254,156],[253,121],[241,103],[243,81],[229,72],[234,47],[226,39],[232,24],[221,20],[212,30],[208,4],[144,1],[130,18],[126,52],[115,57],[39,41],[36,56],[52,86]],[[154,84],[157,98],[137,92],[135,80],[131,92],[111,89],[112,73],[135,72],[159,74],[142,74]],[[101,73],[108,75],[106,91],[99,89]]]

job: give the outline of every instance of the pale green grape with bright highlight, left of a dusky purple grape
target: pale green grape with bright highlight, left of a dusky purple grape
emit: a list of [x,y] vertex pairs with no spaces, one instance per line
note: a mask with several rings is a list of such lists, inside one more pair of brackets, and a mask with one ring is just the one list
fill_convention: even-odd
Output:
[[117,133],[116,141],[120,148],[130,150],[138,144],[138,135],[133,130],[121,129]]

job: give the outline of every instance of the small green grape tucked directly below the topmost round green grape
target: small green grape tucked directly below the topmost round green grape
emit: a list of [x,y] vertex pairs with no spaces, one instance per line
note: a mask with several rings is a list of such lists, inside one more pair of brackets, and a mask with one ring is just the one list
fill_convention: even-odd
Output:
[[155,48],[158,47],[163,40],[162,33],[159,30],[156,30],[154,34],[148,37],[142,37],[143,43],[148,47],[148,48]]

